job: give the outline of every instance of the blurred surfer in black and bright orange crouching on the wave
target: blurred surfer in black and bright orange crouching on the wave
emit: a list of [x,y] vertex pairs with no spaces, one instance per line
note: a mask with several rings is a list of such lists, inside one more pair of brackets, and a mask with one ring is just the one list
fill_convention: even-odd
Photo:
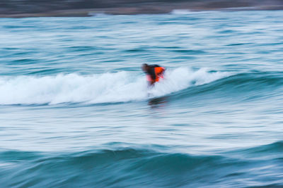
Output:
[[144,63],[142,70],[146,73],[146,79],[149,82],[149,86],[154,86],[155,82],[159,82],[163,78],[165,68],[159,65],[148,65]]

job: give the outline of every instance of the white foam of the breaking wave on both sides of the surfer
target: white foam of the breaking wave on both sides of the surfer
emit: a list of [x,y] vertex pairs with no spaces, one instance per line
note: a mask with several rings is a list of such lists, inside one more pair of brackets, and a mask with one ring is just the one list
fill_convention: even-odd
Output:
[[[156,83],[153,96],[163,96],[192,84],[213,82],[228,73],[209,73],[202,68],[166,70],[166,79]],[[56,75],[0,77],[0,104],[61,104],[86,102],[91,104],[138,101],[148,97],[145,76],[134,72],[100,75]]]

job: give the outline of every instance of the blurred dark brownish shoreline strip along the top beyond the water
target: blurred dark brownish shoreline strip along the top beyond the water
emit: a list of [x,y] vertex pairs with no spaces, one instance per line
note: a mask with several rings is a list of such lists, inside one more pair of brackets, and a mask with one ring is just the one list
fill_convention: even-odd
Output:
[[0,2],[0,18],[28,17],[87,17],[104,13],[110,15],[171,13],[187,11],[266,11],[283,10],[280,0],[4,0]]

